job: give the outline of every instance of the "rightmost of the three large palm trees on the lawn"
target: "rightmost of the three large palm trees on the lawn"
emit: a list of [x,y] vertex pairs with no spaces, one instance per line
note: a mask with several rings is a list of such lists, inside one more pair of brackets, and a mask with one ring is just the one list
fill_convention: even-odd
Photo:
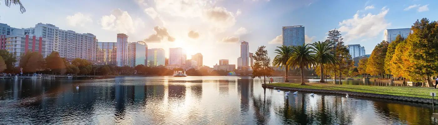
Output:
[[324,83],[324,64],[335,63],[333,43],[326,40],[325,42],[314,42],[311,45],[313,46],[312,49],[315,51],[316,63],[321,67],[321,80],[319,80],[319,82]]

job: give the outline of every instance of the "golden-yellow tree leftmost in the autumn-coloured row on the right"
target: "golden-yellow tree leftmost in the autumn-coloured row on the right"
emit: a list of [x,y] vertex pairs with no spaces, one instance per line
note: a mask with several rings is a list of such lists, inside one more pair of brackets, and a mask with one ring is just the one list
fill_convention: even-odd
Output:
[[367,62],[367,73],[373,76],[378,75],[380,78],[385,73],[385,57],[388,46],[389,42],[382,41],[374,47]]

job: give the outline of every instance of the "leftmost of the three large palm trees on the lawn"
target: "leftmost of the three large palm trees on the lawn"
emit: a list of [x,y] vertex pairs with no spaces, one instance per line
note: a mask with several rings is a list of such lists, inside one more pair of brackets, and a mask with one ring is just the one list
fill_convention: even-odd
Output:
[[285,69],[284,82],[289,82],[289,66],[287,65],[287,60],[289,60],[292,55],[292,46],[281,45],[277,46],[278,49],[275,50],[277,56],[272,60],[272,66],[282,66]]

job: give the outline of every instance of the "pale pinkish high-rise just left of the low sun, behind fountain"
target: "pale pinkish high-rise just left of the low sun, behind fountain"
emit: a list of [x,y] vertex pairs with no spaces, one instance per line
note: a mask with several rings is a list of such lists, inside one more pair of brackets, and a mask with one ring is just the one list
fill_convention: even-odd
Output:
[[169,49],[169,65],[182,66],[186,60],[187,56],[182,48]]

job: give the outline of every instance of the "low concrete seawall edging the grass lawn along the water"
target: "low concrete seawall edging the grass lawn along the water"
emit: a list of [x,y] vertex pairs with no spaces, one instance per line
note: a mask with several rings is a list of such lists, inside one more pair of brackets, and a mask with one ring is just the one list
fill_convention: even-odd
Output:
[[[276,86],[262,84],[262,87],[273,89]],[[350,91],[340,91],[340,90],[318,90],[318,89],[303,89],[303,88],[291,88],[291,87],[276,87],[276,88],[280,90],[306,91],[306,92],[327,93],[327,94],[344,94],[344,95],[348,94],[350,96],[373,97],[373,98],[390,99],[397,101],[409,101],[409,102],[432,104],[432,99],[419,98],[419,97],[404,97],[404,96],[387,95],[387,94],[371,94],[371,93],[350,92]],[[435,100],[434,104],[438,104],[437,101],[438,100]]]

